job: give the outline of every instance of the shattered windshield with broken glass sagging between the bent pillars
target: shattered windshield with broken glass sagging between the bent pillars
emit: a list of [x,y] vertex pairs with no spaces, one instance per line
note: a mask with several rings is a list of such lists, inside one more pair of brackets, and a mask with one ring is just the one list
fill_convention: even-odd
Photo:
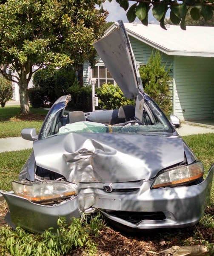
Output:
[[[77,118],[73,122],[69,120],[69,112],[71,111],[66,111],[65,108],[66,103],[64,102],[60,102],[54,106],[41,129],[41,139],[67,133],[143,134],[145,132],[171,132],[171,127],[163,112],[148,96],[145,96],[142,123],[136,120],[122,121],[122,119],[120,123],[120,119],[117,118],[117,120],[115,119],[115,122],[117,122],[112,124],[112,111],[102,112],[102,110],[89,113],[73,111],[73,113],[78,112],[77,114],[81,112],[85,116],[85,120],[78,121]],[[93,115],[90,115],[90,113],[93,113]],[[105,122],[101,119],[99,120],[99,117],[96,117],[96,115],[102,116],[102,113],[105,114],[105,117],[107,116]]]

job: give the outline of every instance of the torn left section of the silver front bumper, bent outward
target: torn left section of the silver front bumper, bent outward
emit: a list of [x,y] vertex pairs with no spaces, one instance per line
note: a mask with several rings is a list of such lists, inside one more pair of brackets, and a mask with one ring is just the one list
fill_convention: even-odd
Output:
[[77,197],[49,206],[35,204],[26,198],[7,192],[2,194],[9,205],[12,223],[31,232],[42,233],[50,227],[55,231],[59,217],[65,217],[66,222],[70,223],[72,217],[81,216]]

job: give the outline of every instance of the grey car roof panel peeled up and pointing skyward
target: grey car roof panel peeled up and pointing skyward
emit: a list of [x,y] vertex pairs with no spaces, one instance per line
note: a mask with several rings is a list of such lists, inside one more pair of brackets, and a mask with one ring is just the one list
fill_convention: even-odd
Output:
[[124,96],[136,98],[143,86],[123,22],[119,21],[117,29],[93,45]]

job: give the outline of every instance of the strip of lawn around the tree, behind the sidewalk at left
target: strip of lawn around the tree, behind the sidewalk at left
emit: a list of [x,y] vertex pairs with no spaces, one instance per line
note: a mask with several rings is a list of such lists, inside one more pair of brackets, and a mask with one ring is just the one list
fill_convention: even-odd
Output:
[[21,136],[23,128],[36,128],[39,132],[48,111],[30,108],[30,115],[20,115],[20,106],[0,108],[0,138]]

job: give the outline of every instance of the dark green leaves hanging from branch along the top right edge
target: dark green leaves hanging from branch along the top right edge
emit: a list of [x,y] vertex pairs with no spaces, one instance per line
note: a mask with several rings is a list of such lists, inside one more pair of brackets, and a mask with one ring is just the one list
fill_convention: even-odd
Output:
[[[100,6],[102,9],[102,2],[100,1]],[[108,0],[111,2],[111,0]],[[205,21],[211,20],[213,16],[214,1],[213,0],[116,0],[120,6],[127,11],[127,18],[129,22],[133,22],[136,17],[141,20],[141,22],[148,26],[148,12],[152,8],[152,14],[154,18],[160,21],[160,26],[165,28],[164,20],[166,12],[170,9],[170,19],[175,25],[180,24],[182,29],[186,28],[185,18],[189,9],[191,19],[199,20],[203,17]],[[95,1],[98,3],[98,1]],[[136,2],[133,4],[133,2]],[[129,6],[129,3],[132,5]]]

